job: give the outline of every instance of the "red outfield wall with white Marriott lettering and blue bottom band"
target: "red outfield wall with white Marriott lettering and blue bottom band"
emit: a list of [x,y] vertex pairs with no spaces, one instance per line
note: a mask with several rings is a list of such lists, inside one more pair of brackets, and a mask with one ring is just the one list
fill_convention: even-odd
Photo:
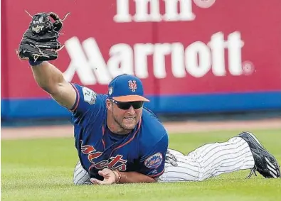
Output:
[[[176,16],[165,10],[166,1],[151,1],[147,14],[142,2],[148,1],[51,0],[43,11],[61,18],[71,13],[60,36],[65,48],[53,64],[70,82],[97,93],[106,93],[120,73],[137,75],[151,99],[147,107],[168,120],[280,115],[280,1],[182,0]],[[1,4],[2,124],[69,122],[70,112],[36,85],[15,53],[31,20],[25,10],[33,15],[41,6],[33,0]]]

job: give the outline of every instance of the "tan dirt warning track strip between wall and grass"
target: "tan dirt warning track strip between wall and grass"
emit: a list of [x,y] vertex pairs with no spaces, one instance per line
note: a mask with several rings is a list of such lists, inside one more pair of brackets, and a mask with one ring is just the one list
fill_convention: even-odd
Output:
[[[281,129],[280,119],[250,121],[177,121],[165,122],[169,134],[200,131],[250,131],[252,129]],[[1,128],[1,139],[73,137],[73,126],[30,126]]]

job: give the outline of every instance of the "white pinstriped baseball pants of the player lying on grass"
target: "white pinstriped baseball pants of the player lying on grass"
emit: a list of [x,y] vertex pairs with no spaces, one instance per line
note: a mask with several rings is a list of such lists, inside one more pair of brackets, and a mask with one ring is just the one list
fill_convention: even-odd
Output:
[[[208,143],[188,155],[168,149],[164,173],[157,181],[202,181],[223,173],[251,169],[254,165],[248,143],[234,137],[223,143]],[[75,185],[90,184],[90,177],[80,161],[75,167],[73,182]]]

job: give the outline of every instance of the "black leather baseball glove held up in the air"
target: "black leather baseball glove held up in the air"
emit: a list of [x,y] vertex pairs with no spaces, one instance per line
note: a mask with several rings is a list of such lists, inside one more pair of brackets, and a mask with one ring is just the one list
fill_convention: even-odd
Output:
[[[37,13],[31,17],[32,21],[16,50],[18,58],[32,62],[55,60],[58,58],[58,51],[63,48],[58,42],[58,37],[65,18],[61,20],[53,12]],[[51,18],[54,22],[51,21]]]

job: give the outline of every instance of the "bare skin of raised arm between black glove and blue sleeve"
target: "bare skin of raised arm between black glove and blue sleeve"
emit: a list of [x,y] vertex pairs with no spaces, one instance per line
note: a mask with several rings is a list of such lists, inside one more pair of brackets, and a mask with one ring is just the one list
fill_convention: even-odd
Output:
[[44,61],[32,66],[34,79],[39,87],[48,92],[58,104],[71,109],[75,104],[76,92],[73,86],[67,82],[63,73],[54,65]]

